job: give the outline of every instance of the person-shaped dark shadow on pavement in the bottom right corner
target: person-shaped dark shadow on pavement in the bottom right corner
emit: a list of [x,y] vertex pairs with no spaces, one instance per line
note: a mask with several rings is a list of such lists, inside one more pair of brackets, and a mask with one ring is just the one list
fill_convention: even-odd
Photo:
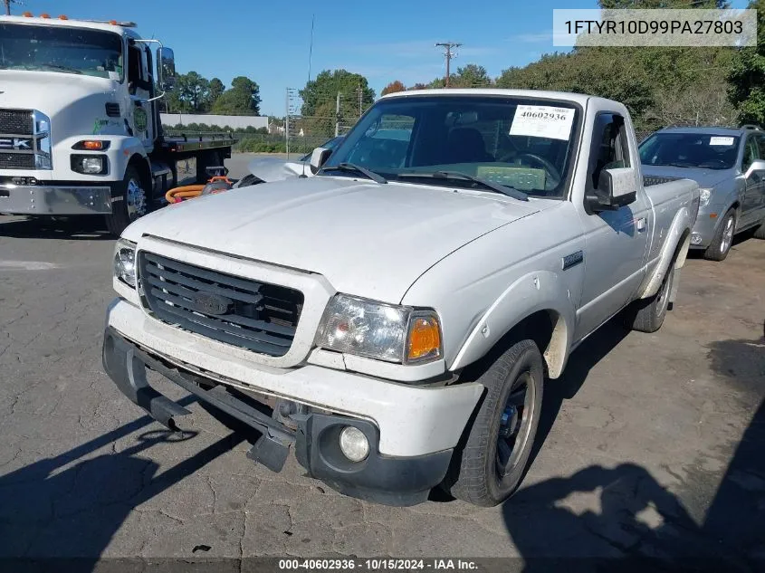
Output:
[[711,476],[720,485],[703,522],[645,468],[593,465],[523,488],[505,503],[524,571],[765,570],[765,337],[715,343],[709,358],[713,370],[744,396],[757,396],[760,406],[732,444],[722,480]]

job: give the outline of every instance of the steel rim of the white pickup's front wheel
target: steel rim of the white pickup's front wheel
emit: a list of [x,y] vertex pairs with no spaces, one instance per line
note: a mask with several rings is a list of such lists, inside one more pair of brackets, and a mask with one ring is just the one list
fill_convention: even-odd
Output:
[[518,465],[531,436],[535,389],[531,373],[523,372],[515,379],[505,402],[497,436],[495,464],[500,481]]

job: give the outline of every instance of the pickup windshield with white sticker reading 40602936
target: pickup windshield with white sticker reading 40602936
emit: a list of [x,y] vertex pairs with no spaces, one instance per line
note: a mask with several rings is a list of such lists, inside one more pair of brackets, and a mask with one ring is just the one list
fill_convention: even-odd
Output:
[[459,172],[531,196],[562,198],[578,125],[579,109],[569,101],[479,95],[379,100],[321,173],[353,177],[332,169],[349,163],[389,181],[474,187],[469,179],[411,177]]

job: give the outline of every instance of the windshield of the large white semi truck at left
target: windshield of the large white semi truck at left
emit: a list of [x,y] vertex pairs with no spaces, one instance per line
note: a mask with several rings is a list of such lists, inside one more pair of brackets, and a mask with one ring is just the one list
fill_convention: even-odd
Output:
[[0,24],[0,70],[76,73],[122,81],[122,38],[117,33]]

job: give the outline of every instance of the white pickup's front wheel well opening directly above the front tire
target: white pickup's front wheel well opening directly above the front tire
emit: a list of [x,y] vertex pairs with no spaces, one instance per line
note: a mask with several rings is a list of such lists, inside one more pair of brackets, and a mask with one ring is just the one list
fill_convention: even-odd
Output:
[[[492,364],[502,352],[509,349],[520,340],[531,339],[540,349],[544,358],[545,376],[557,378],[563,371],[568,349],[568,333],[566,321],[556,310],[539,310],[530,314],[512,329],[508,330],[501,339],[480,360],[468,368],[478,368],[483,371]],[[473,374],[473,376],[475,376]]]

